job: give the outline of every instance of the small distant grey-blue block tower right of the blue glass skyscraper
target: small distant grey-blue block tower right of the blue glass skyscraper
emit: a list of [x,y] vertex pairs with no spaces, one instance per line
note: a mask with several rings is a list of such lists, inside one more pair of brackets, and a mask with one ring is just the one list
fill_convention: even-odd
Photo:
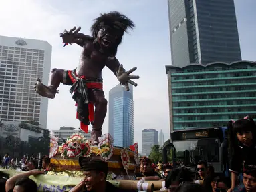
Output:
[[142,130],[142,155],[148,156],[153,145],[158,145],[158,131],[156,129]]

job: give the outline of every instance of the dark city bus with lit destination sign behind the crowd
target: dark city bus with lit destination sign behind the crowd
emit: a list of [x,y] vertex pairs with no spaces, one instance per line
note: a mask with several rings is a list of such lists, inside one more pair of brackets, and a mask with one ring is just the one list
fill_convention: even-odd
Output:
[[168,162],[169,153],[174,167],[184,165],[195,171],[197,162],[203,160],[213,166],[216,173],[229,176],[227,135],[227,127],[173,131],[172,143],[163,147],[163,162]]

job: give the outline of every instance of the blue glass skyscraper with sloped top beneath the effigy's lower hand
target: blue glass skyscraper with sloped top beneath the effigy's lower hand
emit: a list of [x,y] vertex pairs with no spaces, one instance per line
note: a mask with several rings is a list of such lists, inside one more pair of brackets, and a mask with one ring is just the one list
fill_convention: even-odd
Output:
[[109,92],[108,133],[114,145],[129,147],[134,144],[133,89],[126,91],[124,86],[116,85]]

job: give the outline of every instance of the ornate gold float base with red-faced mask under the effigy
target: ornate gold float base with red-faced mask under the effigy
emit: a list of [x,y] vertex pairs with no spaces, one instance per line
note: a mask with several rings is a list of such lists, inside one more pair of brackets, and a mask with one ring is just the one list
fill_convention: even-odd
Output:
[[[63,172],[68,175],[78,176],[80,165],[78,157],[90,157],[102,159],[108,162],[110,173],[116,176],[134,175],[134,168],[138,163],[138,145],[136,150],[113,147],[113,139],[110,134],[99,138],[99,145],[92,146],[89,140],[84,139],[80,133],[73,134],[63,145],[57,145],[57,138],[51,135],[51,172]],[[80,173],[79,173],[80,172]]]

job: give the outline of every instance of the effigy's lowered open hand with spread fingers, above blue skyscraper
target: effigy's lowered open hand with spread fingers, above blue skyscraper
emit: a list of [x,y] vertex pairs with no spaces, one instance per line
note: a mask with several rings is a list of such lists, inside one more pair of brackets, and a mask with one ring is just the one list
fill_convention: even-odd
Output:
[[120,64],[120,66],[119,66],[118,74],[117,74],[118,81],[122,85],[124,85],[124,87],[126,87],[126,91],[130,90],[128,83],[134,85],[135,87],[138,86],[137,83],[130,80],[130,79],[139,79],[140,78],[140,76],[138,76],[138,75],[130,75],[130,73],[134,72],[136,69],[137,69],[137,67],[133,67],[129,71],[125,71],[122,64]]

